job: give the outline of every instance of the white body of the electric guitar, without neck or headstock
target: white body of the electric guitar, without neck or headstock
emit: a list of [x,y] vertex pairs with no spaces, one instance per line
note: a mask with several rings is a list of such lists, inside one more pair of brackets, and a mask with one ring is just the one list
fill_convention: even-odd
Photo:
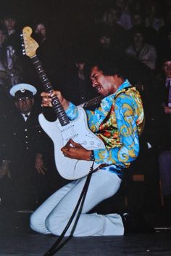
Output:
[[[102,140],[91,132],[87,124],[86,112],[78,107],[78,118],[62,126],[57,121],[47,121],[41,113],[38,117],[41,127],[54,143],[54,156],[59,175],[67,180],[76,180],[88,175],[92,161],[70,159],[63,155],[61,148],[72,139],[88,150],[105,148]],[[94,163],[94,168],[99,164]]]

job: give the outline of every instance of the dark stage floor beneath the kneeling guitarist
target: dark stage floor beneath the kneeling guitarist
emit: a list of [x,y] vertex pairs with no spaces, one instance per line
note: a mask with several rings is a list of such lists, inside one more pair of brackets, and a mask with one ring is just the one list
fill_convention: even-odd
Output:
[[[30,213],[0,207],[0,255],[43,256],[56,236],[35,233],[29,227]],[[59,256],[170,256],[171,229],[161,223],[153,234],[72,238],[55,255]]]

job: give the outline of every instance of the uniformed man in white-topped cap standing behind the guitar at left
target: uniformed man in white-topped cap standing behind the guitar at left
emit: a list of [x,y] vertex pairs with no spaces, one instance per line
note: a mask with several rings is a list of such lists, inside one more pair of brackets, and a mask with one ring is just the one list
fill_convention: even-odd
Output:
[[[7,115],[5,124],[9,151],[9,172],[12,180],[12,203],[15,209],[34,209],[41,202],[39,180],[45,178],[41,148],[42,130],[38,111],[33,108],[36,88],[17,84],[10,89],[16,109]],[[46,192],[45,192],[46,194]]]

